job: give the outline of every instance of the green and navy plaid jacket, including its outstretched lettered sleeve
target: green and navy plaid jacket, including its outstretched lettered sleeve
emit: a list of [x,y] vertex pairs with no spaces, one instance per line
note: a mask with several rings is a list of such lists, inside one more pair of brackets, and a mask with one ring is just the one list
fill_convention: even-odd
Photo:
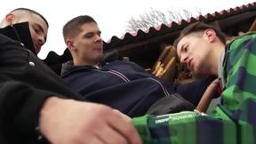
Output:
[[184,111],[132,119],[144,144],[256,144],[256,33],[227,45],[221,105],[212,116]]

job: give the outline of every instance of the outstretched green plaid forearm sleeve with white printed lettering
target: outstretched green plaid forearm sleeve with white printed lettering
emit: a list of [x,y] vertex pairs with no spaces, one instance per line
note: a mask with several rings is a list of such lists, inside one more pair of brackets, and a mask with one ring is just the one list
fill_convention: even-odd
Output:
[[220,108],[215,110],[219,116],[183,111],[133,118],[132,124],[144,144],[235,144],[236,124]]

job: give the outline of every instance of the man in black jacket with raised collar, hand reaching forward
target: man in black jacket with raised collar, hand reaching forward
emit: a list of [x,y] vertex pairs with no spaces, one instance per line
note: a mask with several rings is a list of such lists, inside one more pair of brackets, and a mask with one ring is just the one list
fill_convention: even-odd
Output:
[[36,57],[47,30],[44,17],[26,8],[13,10],[2,20],[0,143],[141,144],[127,116],[81,101]]

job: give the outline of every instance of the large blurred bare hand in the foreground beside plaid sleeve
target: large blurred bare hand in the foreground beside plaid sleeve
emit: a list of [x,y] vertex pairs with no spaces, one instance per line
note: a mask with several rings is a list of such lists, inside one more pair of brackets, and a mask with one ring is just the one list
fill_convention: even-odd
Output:
[[90,102],[48,98],[39,127],[54,144],[142,144],[129,117]]

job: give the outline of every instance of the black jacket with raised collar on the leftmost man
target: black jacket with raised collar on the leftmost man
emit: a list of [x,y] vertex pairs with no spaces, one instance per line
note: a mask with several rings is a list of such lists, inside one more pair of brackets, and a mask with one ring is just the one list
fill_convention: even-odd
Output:
[[28,23],[14,28],[18,32],[21,28],[22,34],[17,36],[10,26],[0,29],[0,143],[32,144],[37,142],[35,128],[44,100],[52,95],[78,99],[78,95],[28,50],[34,50]]

